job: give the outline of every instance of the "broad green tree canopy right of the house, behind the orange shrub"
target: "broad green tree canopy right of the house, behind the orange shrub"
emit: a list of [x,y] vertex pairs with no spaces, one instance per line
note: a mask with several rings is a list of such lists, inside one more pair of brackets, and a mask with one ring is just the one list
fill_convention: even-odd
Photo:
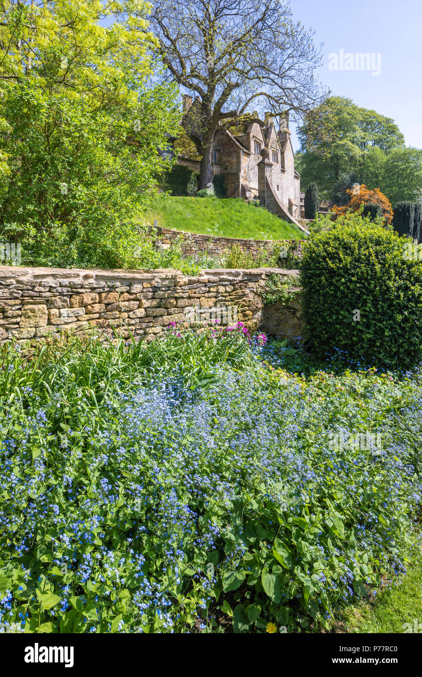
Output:
[[330,97],[306,114],[298,134],[296,164],[303,183],[317,181],[324,196],[337,204],[345,174],[379,188],[393,204],[422,193],[422,151],[404,146],[392,118],[359,108],[350,99]]

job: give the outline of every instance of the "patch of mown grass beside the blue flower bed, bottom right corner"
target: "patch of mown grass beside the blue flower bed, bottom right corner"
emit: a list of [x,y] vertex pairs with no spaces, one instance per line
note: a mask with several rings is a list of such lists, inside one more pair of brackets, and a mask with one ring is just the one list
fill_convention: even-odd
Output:
[[[349,607],[342,632],[422,632],[422,562],[416,556],[402,583],[379,591],[355,607]],[[406,626],[406,624],[409,624]]]

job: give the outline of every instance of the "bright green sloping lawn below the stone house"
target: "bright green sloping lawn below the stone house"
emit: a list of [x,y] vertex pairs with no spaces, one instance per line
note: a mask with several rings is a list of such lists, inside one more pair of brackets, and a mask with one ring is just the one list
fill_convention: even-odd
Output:
[[145,210],[148,223],[190,233],[255,240],[303,240],[295,225],[241,198],[159,197]]

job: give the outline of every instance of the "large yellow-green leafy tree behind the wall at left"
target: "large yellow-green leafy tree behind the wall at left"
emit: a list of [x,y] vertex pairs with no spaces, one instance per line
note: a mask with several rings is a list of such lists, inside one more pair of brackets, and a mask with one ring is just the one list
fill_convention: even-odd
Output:
[[143,1],[0,7],[0,236],[21,242],[24,263],[137,263],[133,221],[177,124],[175,88],[149,84],[147,11]]

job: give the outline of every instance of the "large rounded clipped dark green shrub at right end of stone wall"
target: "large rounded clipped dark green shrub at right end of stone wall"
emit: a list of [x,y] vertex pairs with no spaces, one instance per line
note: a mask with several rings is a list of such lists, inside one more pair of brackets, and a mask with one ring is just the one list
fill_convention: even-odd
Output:
[[336,223],[312,234],[301,262],[305,332],[324,357],[411,368],[422,359],[422,265],[382,226]]

